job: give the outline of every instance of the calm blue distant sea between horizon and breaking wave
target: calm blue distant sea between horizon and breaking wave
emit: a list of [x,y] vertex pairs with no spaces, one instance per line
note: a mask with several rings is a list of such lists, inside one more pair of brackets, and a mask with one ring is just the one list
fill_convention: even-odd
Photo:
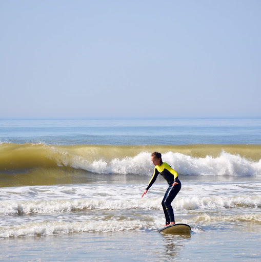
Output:
[[261,144],[261,119],[0,120],[2,143]]

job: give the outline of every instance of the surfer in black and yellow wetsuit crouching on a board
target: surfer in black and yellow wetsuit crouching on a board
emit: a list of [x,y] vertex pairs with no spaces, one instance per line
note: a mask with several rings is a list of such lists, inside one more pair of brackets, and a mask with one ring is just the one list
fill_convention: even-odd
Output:
[[178,174],[167,163],[162,161],[162,154],[153,152],[151,154],[151,162],[155,166],[153,176],[142,194],[143,196],[148,192],[149,188],[155,182],[158,174],[161,174],[168,182],[168,189],[164,195],[162,206],[166,217],[166,225],[175,225],[174,212],[171,206],[171,202],[176,197],[181,188],[181,183],[178,180]]

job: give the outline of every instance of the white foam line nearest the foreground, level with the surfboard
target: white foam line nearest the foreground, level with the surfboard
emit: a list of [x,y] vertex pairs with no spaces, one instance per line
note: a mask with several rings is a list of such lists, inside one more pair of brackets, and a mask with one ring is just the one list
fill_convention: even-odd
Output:
[[[261,222],[260,213],[236,214],[236,215],[210,215],[203,213],[195,215],[189,219],[183,219],[177,223],[189,225],[201,225],[205,223],[240,223],[240,222]],[[109,220],[90,220],[90,221],[35,221],[19,225],[0,226],[0,237],[17,237],[17,236],[36,236],[36,235],[54,235],[67,234],[72,232],[112,232],[112,231],[129,231],[156,229],[163,224],[163,220],[155,221],[145,220],[118,220],[115,217]],[[202,229],[192,227],[193,232],[201,232]]]

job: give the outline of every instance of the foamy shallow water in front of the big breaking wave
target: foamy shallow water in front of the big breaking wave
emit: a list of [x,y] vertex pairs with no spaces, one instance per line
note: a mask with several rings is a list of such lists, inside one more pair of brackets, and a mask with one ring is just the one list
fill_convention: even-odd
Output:
[[[12,201],[22,200],[17,210],[24,213],[1,214],[0,260],[259,261],[260,180],[246,184],[242,177],[229,176],[180,179],[183,188],[172,205],[176,222],[191,225],[190,235],[157,232],[164,222],[163,180],[155,182],[145,199],[140,198],[148,182],[144,177],[128,177],[122,184],[107,179],[98,185],[2,188],[2,204],[4,196],[8,201],[9,195],[16,195]],[[76,201],[78,208],[72,206]],[[84,201],[92,203],[84,207]],[[3,230],[11,235],[3,237]]]

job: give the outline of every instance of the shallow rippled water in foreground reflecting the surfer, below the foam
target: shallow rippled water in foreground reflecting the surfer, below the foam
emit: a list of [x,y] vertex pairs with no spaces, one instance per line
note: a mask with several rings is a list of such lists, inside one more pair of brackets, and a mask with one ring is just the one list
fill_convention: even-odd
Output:
[[[1,261],[260,261],[258,226],[205,227],[190,236],[133,232],[71,233],[0,239]],[[108,241],[107,239],[110,239]],[[73,243],[73,245],[72,245]],[[113,246],[112,246],[113,245]],[[25,249],[26,246],[26,249]],[[253,248],[255,246],[255,248]],[[10,253],[10,250],[16,253]],[[56,251],[53,252],[53,249]],[[37,250],[37,252],[35,252]]]

